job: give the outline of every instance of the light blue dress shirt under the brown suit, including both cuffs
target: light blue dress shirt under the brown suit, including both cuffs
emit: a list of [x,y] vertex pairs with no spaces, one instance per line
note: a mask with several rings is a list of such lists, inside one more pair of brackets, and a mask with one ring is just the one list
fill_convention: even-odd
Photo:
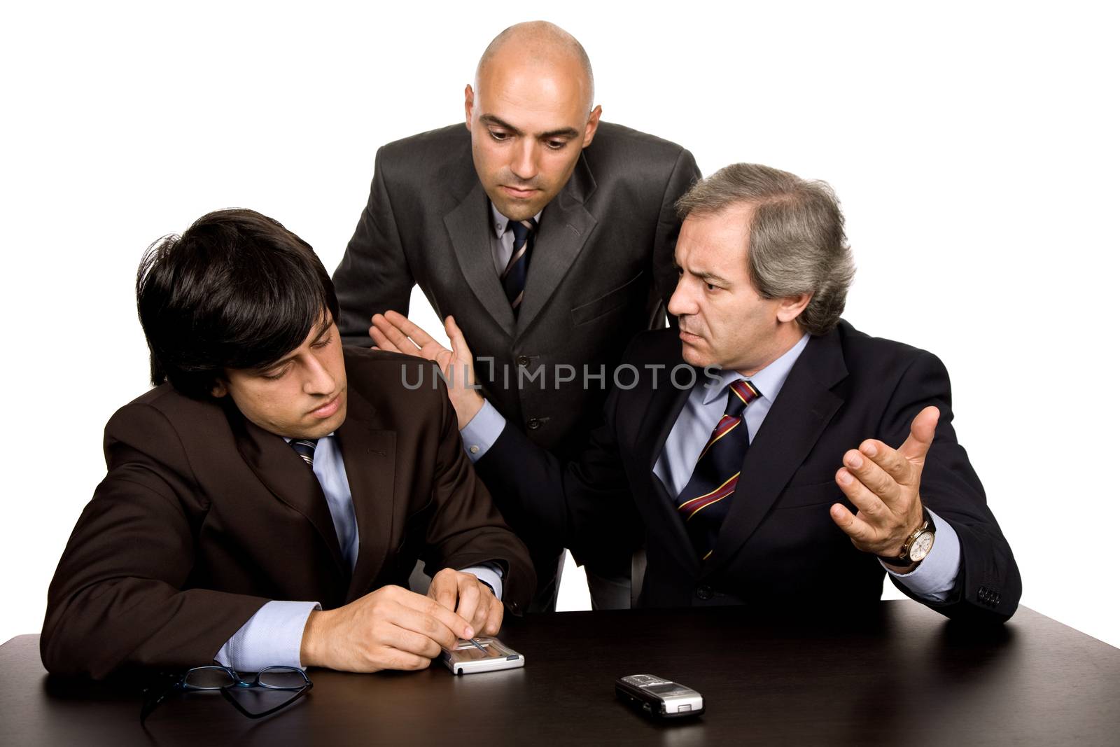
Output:
[[[289,438],[284,440],[291,441]],[[327,498],[343,558],[353,570],[358,550],[357,516],[346,479],[346,466],[334,433],[324,436],[315,443],[311,470]],[[463,570],[477,576],[494,590],[494,596],[502,598],[502,576],[496,564]],[[318,601],[265,603],[225,642],[214,661],[239,672],[260,672],[265,666],[301,666],[299,648],[304,642],[304,628],[308,616],[316,609],[323,609]]]

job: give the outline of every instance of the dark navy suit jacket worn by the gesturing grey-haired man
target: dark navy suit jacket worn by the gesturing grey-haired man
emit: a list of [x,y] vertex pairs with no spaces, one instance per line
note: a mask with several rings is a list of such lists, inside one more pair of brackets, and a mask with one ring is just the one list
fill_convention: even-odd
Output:
[[[955,530],[962,557],[950,598],[923,604],[961,617],[1004,619],[1014,613],[1021,591],[1018,568],[956,442],[949,374],[935,356],[868,337],[844,321],[811,338],[747,451],[730,513],[703,562],[653,474],[689,394],[670,381],[673,366],[683,365],[676,333],[638,336],[624,362],[642,372],[638,384],[612,392],[605,422],[578,460],[563,466],[506,428],[475,467],[503,511],[512,503],[532,513],[577,558],[635,544],[644,529],[647,568],[640,604],[820,606],[879,599],[885,571],[878,560],[857,550],[829,516],[838,501],[855,511],[834,474],[844,451],[864,439],[900,445],[914,417],[934,404],[941,420],[921,494]],[[647,364],[668,366],[655,371]],[[702,372],[698,376],[702,382]],[[687,381],[683,370],[678,381]]]

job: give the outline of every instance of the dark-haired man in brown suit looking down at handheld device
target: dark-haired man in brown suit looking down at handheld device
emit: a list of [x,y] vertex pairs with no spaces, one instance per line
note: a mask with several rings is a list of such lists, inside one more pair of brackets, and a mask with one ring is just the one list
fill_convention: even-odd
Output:
[[[344,353],[298,236],[206,215],[153,245],[137,301],[157,386],[105,427],[108,475],[50,585],[48,670],[419,669],[528,603],[528,554],[445,392],[405,389],[392,353]],[[418,558],[427,597],[403,588]]]

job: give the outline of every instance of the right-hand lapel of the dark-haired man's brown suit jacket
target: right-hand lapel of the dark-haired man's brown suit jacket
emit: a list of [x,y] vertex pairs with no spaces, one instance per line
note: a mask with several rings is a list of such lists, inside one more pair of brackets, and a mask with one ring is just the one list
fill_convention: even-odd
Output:
[[357,519],[357,560],[346,595],[346,601],[352,601],[368,590],[389,553],[396,431],[379,428],[373,405],[356,391],[351,389],[347,396],[346,421],[336,436]]

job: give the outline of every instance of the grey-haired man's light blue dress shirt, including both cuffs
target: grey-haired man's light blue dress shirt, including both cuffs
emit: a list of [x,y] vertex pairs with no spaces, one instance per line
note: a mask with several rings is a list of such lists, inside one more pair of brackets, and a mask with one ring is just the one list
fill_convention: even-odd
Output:
[[[809,344],[809,335],[803,335],[797,343],[786,351],[780,358],[768,366],[749,376],[749,381],[759,391],[760,396],[754,400],[746,409],[745,420],[747,426],[747,438],[754,441],[755,433],[762,428],[766,414],[777,399],[778,392],[785,384],[793,364],[801,356],[805,345]],[[727,387],[734,381],[743,379],[743,374],[735,371],[725,371],[717,380],[700,377],[689,399],[684,403],[684,409],[678,415],[673,429],[665,439],[665,446],[657,457],[653,467],[653,473],[665,486],[670,495],[680,495],[684,486],[688,485],[696,467],[697,459],[703,450],[712,429],[719,419],[724,417],[727,404]],[[464,447],[472,461],[477,461],[489,450],[502,435],[505,428],[505,419],[487,401],[482,409],[475,413],[460,435]],[[839,465],[837,465],[839,469]],[[888,573],[897,578],[915,596],[931,601],[944,601],[956,581],[956,575],[961,567],[961,543],[956,532],[932,511],[930,516],[936,526],[936,541],[925,560],[918,563],[909,573],[898,573],[890,566],[880,564]]]

